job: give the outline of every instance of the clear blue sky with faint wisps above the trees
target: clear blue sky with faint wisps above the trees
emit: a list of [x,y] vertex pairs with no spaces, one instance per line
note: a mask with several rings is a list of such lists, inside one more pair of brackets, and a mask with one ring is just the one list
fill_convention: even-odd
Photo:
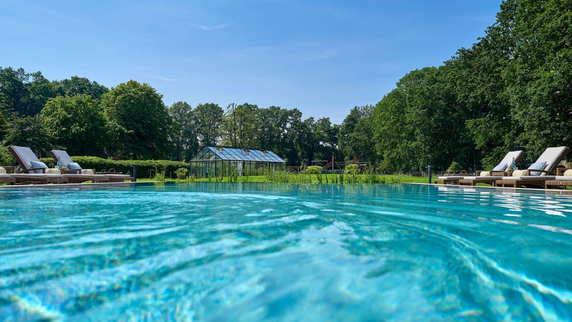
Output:
[[168,105],[248,102],[340,123],[471,46],[500,3],[3,1],[0,66],[108,87],[133,79]]

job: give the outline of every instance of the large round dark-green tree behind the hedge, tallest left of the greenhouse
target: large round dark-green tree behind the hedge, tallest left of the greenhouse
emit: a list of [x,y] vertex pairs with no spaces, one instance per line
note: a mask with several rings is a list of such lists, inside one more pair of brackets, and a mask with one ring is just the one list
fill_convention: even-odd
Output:
[[172,148],[173,121],[162,95],[148,84],[130,80],[101,97],[112,136],[109,151],[133,159],[162,159]]

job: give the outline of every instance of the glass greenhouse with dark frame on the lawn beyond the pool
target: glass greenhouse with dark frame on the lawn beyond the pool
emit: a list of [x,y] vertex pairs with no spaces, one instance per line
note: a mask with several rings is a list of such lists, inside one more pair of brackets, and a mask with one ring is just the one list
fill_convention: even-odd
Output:
[[284,159],[269,150],[206,146],[190,159],[190,174],[198,178],[265,175],[285,169]]

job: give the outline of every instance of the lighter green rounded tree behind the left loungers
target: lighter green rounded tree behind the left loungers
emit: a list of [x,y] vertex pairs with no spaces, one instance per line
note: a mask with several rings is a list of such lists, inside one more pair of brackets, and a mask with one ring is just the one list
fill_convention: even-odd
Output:
[[104,113],[91,96],[58,96],[49,99],[41,120],[53,144],[70,155],[103,156],[108,143]]

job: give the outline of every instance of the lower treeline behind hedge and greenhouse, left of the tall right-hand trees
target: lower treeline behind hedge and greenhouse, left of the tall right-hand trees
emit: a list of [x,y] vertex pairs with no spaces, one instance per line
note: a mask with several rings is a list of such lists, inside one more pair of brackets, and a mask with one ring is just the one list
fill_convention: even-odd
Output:
[[41,72],[0,67],[0,161],[7,146],[36,153],[188,161],[201,146],[265,148],[289,164],[341,158],[339,126],[327,117],[302,118],[298,109],[214,103],[170,107],[148,84],[130,80],[106,88],[85,77],[47,80]]

